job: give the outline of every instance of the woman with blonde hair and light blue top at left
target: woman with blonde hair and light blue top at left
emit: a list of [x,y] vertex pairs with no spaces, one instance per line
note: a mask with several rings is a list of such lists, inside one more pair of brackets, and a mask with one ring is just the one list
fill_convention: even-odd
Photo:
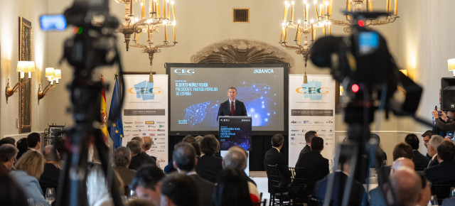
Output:
[[22,186],[28,198],[32,198],[35,204],[49,205],[43,197],[38,178],[44,170],[44,157],[38,151],[24,153],[16,162],[16,171],[11,171],[11,177]]

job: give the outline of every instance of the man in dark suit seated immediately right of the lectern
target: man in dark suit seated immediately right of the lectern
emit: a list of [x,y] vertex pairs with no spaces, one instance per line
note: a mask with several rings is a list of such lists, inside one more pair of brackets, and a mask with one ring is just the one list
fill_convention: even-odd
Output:
[[275,134],[272,136],[272,148],[265,153],[264,165],[278,165],[279,176],[282,180],[282,190],[289,190],[289,183],[291,182],[291,172],[287,168],[286,157],[279,151],[283,148],[284,136],[282,134]]

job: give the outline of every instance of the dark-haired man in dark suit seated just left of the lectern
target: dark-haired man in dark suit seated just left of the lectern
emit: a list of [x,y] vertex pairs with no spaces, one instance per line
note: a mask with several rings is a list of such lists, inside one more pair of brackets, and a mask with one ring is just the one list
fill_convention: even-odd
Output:
[[198,159],[196,173],[198,173],[201,178],[209,180],[212,183],[216,182],[218,173],[223,170],[223,166],[221,165],[223,159],[214,156],[219,149],[220,143],[213,134],[205,135],[204,139],[200,141],[201,156]]

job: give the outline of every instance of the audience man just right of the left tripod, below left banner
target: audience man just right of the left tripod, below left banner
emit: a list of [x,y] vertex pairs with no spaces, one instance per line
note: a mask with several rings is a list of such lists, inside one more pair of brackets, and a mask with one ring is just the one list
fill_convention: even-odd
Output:
[[136,173],[136,170],[128,168],[130,162],[131,151],[129,148],[121,146],[114,150],[114,170],[119,173],[124,185],[129,185]]

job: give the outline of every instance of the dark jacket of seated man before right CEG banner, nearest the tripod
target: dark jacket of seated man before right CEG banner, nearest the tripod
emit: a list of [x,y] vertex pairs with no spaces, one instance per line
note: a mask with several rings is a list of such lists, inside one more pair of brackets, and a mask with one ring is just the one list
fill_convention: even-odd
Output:
[[323,158],[319,151],[300,153],[296,168],[306,168],[306,184],[309,193],[312,194],[314,184],[328,175],[328,159]]

